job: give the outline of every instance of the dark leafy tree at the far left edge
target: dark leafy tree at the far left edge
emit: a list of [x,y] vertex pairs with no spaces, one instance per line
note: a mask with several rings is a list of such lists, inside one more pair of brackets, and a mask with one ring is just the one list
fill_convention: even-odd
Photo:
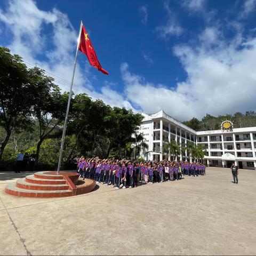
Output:
[[0,126],[5,138],[0,146],[0,159],[14,127],[30,129],[32,108],[44,90],[38,87],[33,69],[27,69],[19,55],[0,47]]

